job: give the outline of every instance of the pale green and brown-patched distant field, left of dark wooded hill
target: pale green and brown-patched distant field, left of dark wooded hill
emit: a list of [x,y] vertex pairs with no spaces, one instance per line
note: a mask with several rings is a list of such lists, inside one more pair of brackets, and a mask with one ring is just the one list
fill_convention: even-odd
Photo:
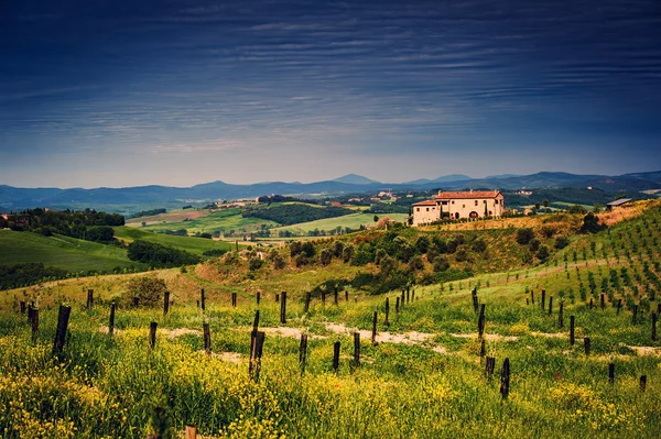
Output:
[[[188,221],[183,220],[186,218],[186,213],[189,213],[188,217],[191,220]],[[212,233],[216,230],[221,232],[229,230],[250,232],[259,230],[262,224],[278,226],[273,221],[263,220],[260,218],[243,218],[241,217],[240,209],[219,210],[209,213],[204,212],[205,215],[197,217],[199,213],[201,212],[196,212],[195,210],[167,212],[154,217],[129,220],[127,226],[141,228],[142,230],[149,231],[186,229],[188,233]],[[148,226],[142,228],[142,221],[147,222]]]

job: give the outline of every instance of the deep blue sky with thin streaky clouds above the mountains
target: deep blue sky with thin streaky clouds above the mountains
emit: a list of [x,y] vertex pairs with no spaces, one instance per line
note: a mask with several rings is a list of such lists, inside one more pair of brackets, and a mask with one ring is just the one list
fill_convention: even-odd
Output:
[[661,169],[661,6],[0,2],[0,184]]

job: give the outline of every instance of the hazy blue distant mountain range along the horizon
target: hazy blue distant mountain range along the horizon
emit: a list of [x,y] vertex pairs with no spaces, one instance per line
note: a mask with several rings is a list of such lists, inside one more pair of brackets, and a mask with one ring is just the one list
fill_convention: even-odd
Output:
[[315,197],[370,193],[382,189],[516,190],[521,188],[553,189],[564,187],[593,187],[609,193],[661,189],[661,171],[619,176],[543,172],[531,175],[500,175],[487,178],[470,178],[466,175],[454,174],[433,180],[418,179],[407,183],[379,183],[360,175],[349,174],[334,180],[316,183],[270,182],[252,185],[231,185],[218,180],[186,188],[138,186],[127,188],[58,189],[17,188],[0,185],[0,211],[19,210],[30,207],[47,207],[53,209],[94,207],[108,211],[126,212],[127,209],[139,210],[141,206],[251,198],[270,194]]

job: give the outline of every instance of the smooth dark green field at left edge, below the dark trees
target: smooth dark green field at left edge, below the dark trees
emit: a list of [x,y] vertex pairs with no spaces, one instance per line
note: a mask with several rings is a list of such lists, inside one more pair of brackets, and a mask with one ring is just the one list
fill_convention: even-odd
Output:
[[42,262],[74,273],[142,266],[129,261],[123,249],[63,235],[46,238],[31,232],[0,230],[0,249],[2,265]]

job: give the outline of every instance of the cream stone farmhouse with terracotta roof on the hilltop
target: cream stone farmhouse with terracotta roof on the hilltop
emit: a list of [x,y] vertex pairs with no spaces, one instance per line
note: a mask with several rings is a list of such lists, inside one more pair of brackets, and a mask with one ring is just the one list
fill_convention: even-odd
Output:
[[505,197],[500,190],[438,190],[434,199],[413,205],[412,226],[441,219],[500,217],[503,210]]

